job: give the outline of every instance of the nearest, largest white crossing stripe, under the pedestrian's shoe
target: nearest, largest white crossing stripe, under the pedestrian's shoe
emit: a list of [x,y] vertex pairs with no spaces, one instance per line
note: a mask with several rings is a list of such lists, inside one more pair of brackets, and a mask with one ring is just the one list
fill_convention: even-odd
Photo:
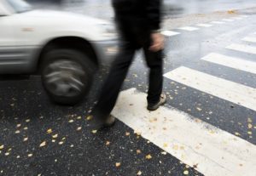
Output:
[[256,175],[255,145],[176,109],[149,112],[146,96],[135,88],[123,91],[113,116],[204,175]]

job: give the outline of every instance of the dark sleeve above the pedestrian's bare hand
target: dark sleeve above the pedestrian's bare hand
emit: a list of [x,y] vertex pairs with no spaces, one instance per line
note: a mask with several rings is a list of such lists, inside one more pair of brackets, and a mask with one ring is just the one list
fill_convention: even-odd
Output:
[[151,31],[160,29],[161,22],[161,2],[162,0],[146,0],[146,12],[148,16],[149,26]]

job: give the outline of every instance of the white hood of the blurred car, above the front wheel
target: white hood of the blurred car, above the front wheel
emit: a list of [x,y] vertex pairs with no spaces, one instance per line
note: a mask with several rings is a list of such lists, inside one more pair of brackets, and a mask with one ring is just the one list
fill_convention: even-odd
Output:
[[116,32],[112,30],[113,23],[84,14],[37,9],[19,15],[26,20],[26,25],[52,36],[75,35],[86,37],[90,41],[117,38]]

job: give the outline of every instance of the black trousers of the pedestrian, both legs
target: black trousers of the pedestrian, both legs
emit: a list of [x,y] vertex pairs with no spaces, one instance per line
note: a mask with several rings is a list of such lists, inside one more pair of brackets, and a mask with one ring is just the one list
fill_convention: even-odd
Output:
[[[133,37],[142,37],[133,36]],[[162,51],[152,52],[150,47],[150,35],[147,38],[140,38],[136,43],[131,40],[125,40],[120,48],[119,54],[113,61],[108,77],[103,84],[102,93],[92,112],[93,115],[105,120],[113,110],[113,106],[118,98],[119,91],[127,75],[128,69],[134,58],[137,49],[143,48],[147,65],[150,68],[149,86],[148,86],[148,104],[155,104],[160,100],[162,91]]]

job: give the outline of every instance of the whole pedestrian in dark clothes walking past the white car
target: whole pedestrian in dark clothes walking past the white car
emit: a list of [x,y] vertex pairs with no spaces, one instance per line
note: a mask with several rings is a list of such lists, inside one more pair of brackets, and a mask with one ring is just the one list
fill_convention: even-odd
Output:
[[155,111],[166,103],[166,95],[162,94],[164,37],[160,34],[161,0],[113,0],[112,4],[121,37],[120,51],[92,111],[92,116],[106,126],[113,125],[115,119],[110,113],[138,49],[143,49],[150,69],[147,109]]

